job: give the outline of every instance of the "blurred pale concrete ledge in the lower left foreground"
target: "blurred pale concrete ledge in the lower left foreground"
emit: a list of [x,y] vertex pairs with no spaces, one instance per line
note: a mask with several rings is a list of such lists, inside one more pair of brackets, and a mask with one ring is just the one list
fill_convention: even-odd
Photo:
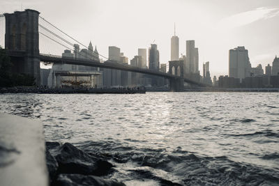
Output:
[[0,185],[48,185],[42,123],[0,114]]

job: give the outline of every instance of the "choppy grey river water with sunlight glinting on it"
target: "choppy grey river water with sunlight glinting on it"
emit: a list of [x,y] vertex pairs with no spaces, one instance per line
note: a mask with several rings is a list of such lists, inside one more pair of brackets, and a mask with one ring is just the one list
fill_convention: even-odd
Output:
[[0,111],[107,157],[127,185],[279,185],[278,93],[6,94]]

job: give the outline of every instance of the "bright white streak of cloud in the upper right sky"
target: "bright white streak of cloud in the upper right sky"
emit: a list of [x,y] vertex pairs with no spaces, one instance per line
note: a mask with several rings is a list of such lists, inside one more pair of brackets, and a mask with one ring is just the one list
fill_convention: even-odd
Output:
[[279,15],[279,8],[256,8],[247,12],[225,17],[218,23],[219,28],[233,29],[239,26],[245,26],[259,20],[267,20]]

